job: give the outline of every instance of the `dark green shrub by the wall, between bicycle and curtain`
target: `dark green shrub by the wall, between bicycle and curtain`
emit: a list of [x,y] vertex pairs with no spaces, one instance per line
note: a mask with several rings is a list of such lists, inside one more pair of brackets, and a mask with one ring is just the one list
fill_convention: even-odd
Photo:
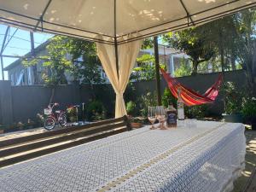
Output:
[[102,102],[92,101],[86,108],[87,119],[90,121],[106,119],[106,109]]

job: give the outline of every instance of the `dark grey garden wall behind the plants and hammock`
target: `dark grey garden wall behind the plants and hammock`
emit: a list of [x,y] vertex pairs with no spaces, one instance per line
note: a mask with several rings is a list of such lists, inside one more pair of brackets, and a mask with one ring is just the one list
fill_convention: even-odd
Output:
[[[203,93],[209,88],[218,77],[218,73],[200,74],[178,78],[178,80],[194,90]],[[228,72],[224,75],[225,81],[233,81],[243,87],[246,83],[245,74],[240,71]],[[155,90],[154,81],[134,83],[135,91],[132,91],[134,98],[142,96],[148,91]],[[161,90],[166,88],[166,82],[161,80]],[[103,102],[108,111],[108,117],[113,116],[115,95],[110,84],[96,84],[91,91],[89,85],[58,85],[55,87],[53,102],[59,102],[61,108],[90,102],[96,96],[97,100]],[[127,90],[131,91],[131,90]],[[126,97],[128,93],[125,93]],[[14,122],[26,122],[27,119],[34,119],[37,113],[43,113],[47,107],[52,88],[44,85],[11,86],[9,81],[0,81],[0,124],[9,125]],[[131,93],[130,93],[131,95]],[[131,97],[131,96],[130,96]],[[126,101],[128,102],[128,101]],[[221,96],[212,105],[212,113],[223,112]]]

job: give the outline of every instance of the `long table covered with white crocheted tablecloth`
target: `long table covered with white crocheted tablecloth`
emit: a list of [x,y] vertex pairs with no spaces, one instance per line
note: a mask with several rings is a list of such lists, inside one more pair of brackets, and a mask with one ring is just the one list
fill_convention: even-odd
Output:
[[0,191],[229,191],[243,168],[244,126],[148,126],[0,169]]

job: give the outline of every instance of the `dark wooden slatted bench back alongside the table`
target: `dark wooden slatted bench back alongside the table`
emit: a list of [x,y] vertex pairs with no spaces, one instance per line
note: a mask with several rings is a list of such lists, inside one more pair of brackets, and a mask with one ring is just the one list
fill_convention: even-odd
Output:
[[0,142],[0,167],[130,131],[126,116]]

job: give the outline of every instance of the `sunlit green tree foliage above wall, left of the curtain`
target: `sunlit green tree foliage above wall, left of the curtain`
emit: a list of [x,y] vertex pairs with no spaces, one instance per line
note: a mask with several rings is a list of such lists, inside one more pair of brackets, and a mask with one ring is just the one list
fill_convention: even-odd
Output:
[[102,83],[96,44],[78,38],[55,36],[46,46],[46,55],[22,61],[26,67],[42,62],[45,84],[67,84],[66,73],[82,84]]

